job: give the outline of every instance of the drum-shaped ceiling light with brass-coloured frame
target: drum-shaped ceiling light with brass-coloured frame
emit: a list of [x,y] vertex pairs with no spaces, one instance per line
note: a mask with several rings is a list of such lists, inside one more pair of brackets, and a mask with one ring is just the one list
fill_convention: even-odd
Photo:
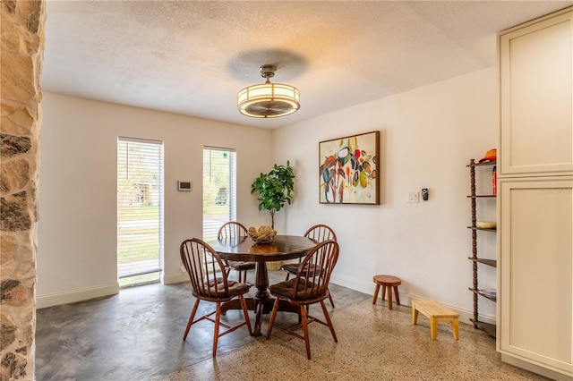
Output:
[[236,95],[239,113],[253,118],[276,118],[293,114],[300,108],[301,92],[293,86],[282,83],[270,83],[277,66],[262,65],[261,77],[267,81],[260,85],[244,88]]

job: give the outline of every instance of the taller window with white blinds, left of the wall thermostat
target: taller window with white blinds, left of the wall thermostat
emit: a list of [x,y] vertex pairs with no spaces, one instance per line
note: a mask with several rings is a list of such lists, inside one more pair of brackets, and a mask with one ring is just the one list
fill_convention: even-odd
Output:
[[162,258],[163,142],[119,138],[117,274],[120,284],[157,281]]

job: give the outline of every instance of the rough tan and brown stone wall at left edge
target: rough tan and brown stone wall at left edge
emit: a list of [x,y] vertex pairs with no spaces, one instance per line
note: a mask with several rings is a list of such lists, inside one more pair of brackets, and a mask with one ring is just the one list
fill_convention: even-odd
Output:
[[0,380],[32,380],[46,4],[1,0],[0,11]]

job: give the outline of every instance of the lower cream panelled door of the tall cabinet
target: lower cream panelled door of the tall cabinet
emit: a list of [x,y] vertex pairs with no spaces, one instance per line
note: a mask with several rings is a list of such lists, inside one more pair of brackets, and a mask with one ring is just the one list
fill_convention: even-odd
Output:
[[571,177],[501,179],[498,350],[573,375]]

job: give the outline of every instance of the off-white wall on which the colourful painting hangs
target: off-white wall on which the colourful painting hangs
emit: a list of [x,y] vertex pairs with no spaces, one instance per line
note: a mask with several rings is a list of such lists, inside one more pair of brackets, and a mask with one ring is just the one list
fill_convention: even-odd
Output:
[[[312,224],[331,225],[341,249],[335,284],[372,293],[373,275],[397,275],[405,304],[435,299],[467,318],[472,263],[466,165],[497,145],[496,89],[491,68],[275,131],[275,160],[289,159],[296,175],[295,200],[278,228],[294,234]],[[319,141],[368,131],[381,131],[381,206],[319,204]],[[491,169],[478,174],[490,187]],[[428,201],[406,203],[409,191],[422,188],[430,190]],[[495,200],[489,201],[484,215],[495,219]],[[484,215],[480,210],[478,219]],[[478,250],[489,253],[480,256],[495,258],[494,235],[482,237]],[[479,286],[495,288],[494,269],[480,272]],[[480,301],[480,310],[495,317],[490,301]]]

